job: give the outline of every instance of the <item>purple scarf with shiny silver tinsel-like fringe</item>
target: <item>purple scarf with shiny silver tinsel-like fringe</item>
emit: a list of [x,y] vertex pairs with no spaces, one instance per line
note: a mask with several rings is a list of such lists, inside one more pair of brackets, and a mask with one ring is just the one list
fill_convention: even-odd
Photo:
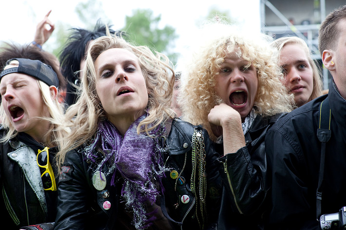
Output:
[[[96,171],[101,171],[104,164],[110,165],[105,175],[113,173],[111,185],[115,186],[115,174],[118,171],[124,178],[121,195],[125,200],[126,208],[133,211],[136,229],[144,229],[150,225],[144,202],[154,203],[156,197],[163,192],[161,178],[167,171],[163,166],[163,149],[158,144],[158,137],[164,133],[164,126],[159,125],[146,133],[137,134],[138,124],[147,117],[139,117],[122,137],[115,126],[107,121],[98,125],[95,141],[86,147],[84,153],[87,159],[96,162],[95,149],[101,143],[104,158],[97,164]],[[161,191],[157,191],[155,181],[160,184]],[[151,214],[151,213],[150,213]]]

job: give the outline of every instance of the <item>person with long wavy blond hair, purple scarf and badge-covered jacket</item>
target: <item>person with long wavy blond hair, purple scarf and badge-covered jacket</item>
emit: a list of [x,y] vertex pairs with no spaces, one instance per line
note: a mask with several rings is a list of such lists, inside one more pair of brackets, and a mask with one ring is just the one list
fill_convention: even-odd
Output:
[[174,119],[171,66],[119,37],[90,44],[79,97],[66,111],[72,132],[58,154],[55,230],[216,222],[219,155],[206,130]]

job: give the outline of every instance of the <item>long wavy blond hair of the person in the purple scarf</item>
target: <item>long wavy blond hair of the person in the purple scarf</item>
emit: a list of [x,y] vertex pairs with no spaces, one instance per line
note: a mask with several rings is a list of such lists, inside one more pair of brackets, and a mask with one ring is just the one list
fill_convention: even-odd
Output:
[[139,59],[139,65],[145,78],[149,95],[146,110],[149,115],[140,122],[137,133],[148,133],[163,121],[174,117],[174,112],[170,107],[174,71],[167,56],[162,53],[155,55],[148,47],[132,45],[121,37],[101,36],[90,44],[81,85],[77,91],[77,102],[66,111],[66,122],[72,131],[66,137],[67,141],[58,153],[59,166],[68,151],[91,140],[96,134],[97,125],[107,119],[96,93],[94,63],[102,52],[112,48],[121,48],[134,53]]

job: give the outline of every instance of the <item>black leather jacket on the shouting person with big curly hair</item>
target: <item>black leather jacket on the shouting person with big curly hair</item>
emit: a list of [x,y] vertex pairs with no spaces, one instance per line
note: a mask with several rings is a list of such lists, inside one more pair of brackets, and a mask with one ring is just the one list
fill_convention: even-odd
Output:
[[269,128],[280,116],[257,115],[245,135],[246,146],[219,159],[225,185],[219,230],[263,229],[263,214],[269,207],[271,186],[264,140]]

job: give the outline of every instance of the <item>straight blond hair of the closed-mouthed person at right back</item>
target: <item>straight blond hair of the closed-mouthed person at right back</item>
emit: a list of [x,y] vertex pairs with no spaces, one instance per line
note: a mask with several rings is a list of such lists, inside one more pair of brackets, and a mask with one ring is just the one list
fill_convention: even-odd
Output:
[[307,43],[300,37],[292,36],[292,37],[280,37],[276,39],[275,41],[273,41],[271,45],[278,50],[278,59],[279,59],[282,49],[288,44],[299,45],[308,57],[308,62],[312,69],[312,81],[313,81],[312,93],[308,99],[308,102],[319,96],[322,96],[322,79],[321,79],[320,70],[318,69],[315,61],[311,57],[311,53],[309,51]]

